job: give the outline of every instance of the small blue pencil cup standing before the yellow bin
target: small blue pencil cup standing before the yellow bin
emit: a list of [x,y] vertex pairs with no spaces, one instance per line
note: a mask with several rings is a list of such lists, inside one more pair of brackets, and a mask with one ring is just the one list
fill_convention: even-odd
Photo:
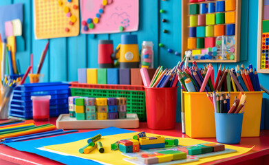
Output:
[[243,114],[215,112],[217,142],[224,144],[237,144],[240,142]]

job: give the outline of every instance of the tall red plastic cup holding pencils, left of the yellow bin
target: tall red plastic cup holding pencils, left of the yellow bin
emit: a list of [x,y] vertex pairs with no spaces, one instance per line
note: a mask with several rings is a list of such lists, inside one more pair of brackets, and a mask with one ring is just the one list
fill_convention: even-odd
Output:
[[175,129],[177,87],[144,87],[149,129]]

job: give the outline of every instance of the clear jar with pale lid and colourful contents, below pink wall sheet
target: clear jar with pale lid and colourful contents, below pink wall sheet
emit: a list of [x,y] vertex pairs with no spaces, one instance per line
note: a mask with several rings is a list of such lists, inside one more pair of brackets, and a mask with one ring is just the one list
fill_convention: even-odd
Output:
[[153,68],[153,43],[151,41],[142,43],[141,67]]

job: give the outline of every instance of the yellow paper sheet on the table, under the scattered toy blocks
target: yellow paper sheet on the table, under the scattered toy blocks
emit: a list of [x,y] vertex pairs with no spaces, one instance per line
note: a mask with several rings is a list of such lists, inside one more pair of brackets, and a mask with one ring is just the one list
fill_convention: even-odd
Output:
[[[74,155],[76,157],[83,157],[86,159],[92,159],[100,162],[104,162],[107,164],[130,164],[129,162],[125,162],[122,160],[123,158],[127,158],[121,154],[120,151],[111,151],[110,147],[111,144],[118,140],[122,139],[127,139],[127,138],[132,138],[133,135],[136,135],[137,132],[134,133],[122,133],[118,135],[107,135],[107,136],[102,136],[102,138],[99,140],[102,142],[104,148],[105,148],[105,153],[99,153],[99,151],[96,149],[92,151],[92,153],[89,154],[83,154],[83,153],[78,153],[78,149],[85,146],[87,144],[88,139],[84,140],[78,140],[76,142],[70,142],[70,143],[65,143],[65,144],[57,144],[57,145],[51,145],[51,146],[44,146],[44,148],[58,151],[61,153],[66,153],[69,155]],[[153,133],[147,133],[147,136],[156,136],[156,134]],[[182,138],[182,137],[171,137],[171,136],[164,136],[165,138],[176,138],[179,140],[179,145],[182,146],[190,146],[194,144],[201,144],[205,143],[207,141],[204,140],[195,140],[191,138]],[[211,162],[217,159],[224,159],[226,157],[233,157],[236,155],[241,155],[243,153],[246,153],[251,150],[251,148],[243,148],[243,147],[238,147],[238,146],[230,146],[230,145],[225,145],[226,148],[234,149],[237,152],[236,153],[228,153],[225,155],[218,155],[218,156],[213,156],[213,157],[206,157],[200,159],[198,162],[190,162],[187,164],[202,164],[205,162]]]

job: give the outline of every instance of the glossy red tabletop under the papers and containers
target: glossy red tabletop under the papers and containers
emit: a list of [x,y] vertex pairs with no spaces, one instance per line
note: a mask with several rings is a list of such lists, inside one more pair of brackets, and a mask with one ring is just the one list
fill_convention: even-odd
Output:
[[[56,118],[50,118],[50,123],[55,124]],[[47,122],[36,122],[36,125],[46,124]],[[79,132],[94,131],[95,129],[80,129]],[[147,128],[147,122],[140,122],[139,129],[129,129],[132,131],[144,131],[160,135],[175,137],[188,137],[182,134],[181,123],[177,123],[173,130],[152,130]],[[199,138],[209,142],[216,142],[215,138]],[[252,147],[251,151],[243,155],[219,159],[206,164],[269,164],[269,130],[262,130],[260,137],[241,137],[240,144],[235,146]],[[52,159],[47,159],[34,153],[17,151],[9,146],[0,145],[0,164],[61,164]]]

